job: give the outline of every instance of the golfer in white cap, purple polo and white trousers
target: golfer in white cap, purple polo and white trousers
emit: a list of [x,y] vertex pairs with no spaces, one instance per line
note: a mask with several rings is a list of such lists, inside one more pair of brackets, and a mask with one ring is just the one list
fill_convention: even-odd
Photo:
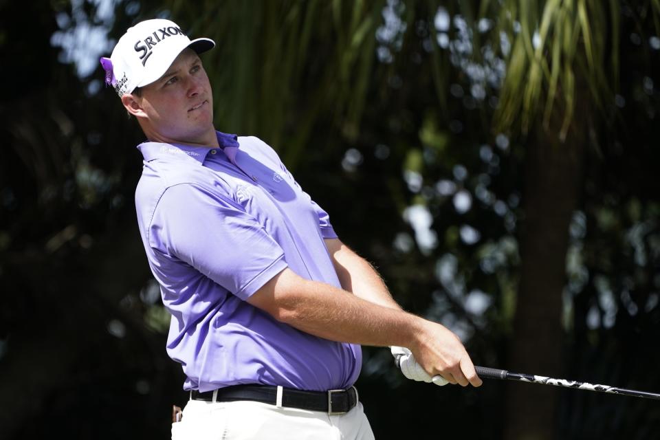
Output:
[[212,47],[148,20],[101,60],[148,138],[137,220],[191,391],[173,438],[373,438],[360,344],[393,346],[415,380],[481,385],[459,339],[401,310],[270,146],[215,131]]

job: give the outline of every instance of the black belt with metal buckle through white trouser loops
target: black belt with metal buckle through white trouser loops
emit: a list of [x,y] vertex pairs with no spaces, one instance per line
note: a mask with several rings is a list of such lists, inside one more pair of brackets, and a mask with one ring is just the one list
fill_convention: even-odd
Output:
[[[206,401],[236,401],[252,400],[261,401],[265,404],[277,404],[277,388],[270,385],[233,385],[217,389],[217,395],[213,399],[215,391],[192,390],[190,399]],[[323,411],[329,415],[344,414],[349,412],[358,404],[358,391],[355,386],[347,390],[330,391],[303,391],[293,388],[282,388],[282,406],[299,408],[311,411]]]

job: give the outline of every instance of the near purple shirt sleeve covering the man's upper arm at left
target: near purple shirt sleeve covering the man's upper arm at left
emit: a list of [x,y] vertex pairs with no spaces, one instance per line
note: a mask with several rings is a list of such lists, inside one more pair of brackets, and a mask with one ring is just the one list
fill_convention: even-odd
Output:
[[254,217],[228,197],[194,184],[165,190],[149,227],[149,243],[242,300],[287,267],[282,248]]

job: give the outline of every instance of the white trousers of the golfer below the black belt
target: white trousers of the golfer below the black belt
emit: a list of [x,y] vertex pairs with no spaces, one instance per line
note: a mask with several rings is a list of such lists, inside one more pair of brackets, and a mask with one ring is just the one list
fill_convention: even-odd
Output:
[[256,401],[190,400],[181,421],[172,423],[172,440],[373,440],[358,402],[342,415],[278,408]]

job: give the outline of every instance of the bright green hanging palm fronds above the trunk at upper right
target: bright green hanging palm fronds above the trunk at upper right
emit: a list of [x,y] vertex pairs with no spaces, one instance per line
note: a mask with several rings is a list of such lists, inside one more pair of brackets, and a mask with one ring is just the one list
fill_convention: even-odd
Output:
[[[503,53],[508,69],[495,115],[497,130],[527,134],[539,113],[548,128],[553,113],[560,112],[558,135],[564,141],[576,98],[590,100],[601,111],[613,100],[619,71],[619,3],[501,3],[484,2],[481,9],[483,17],[498,17],[492,39],[505,35],[511,42],[510,55]],[[587,89],[577,88],[576,77],[584,78],[581,84]]]

